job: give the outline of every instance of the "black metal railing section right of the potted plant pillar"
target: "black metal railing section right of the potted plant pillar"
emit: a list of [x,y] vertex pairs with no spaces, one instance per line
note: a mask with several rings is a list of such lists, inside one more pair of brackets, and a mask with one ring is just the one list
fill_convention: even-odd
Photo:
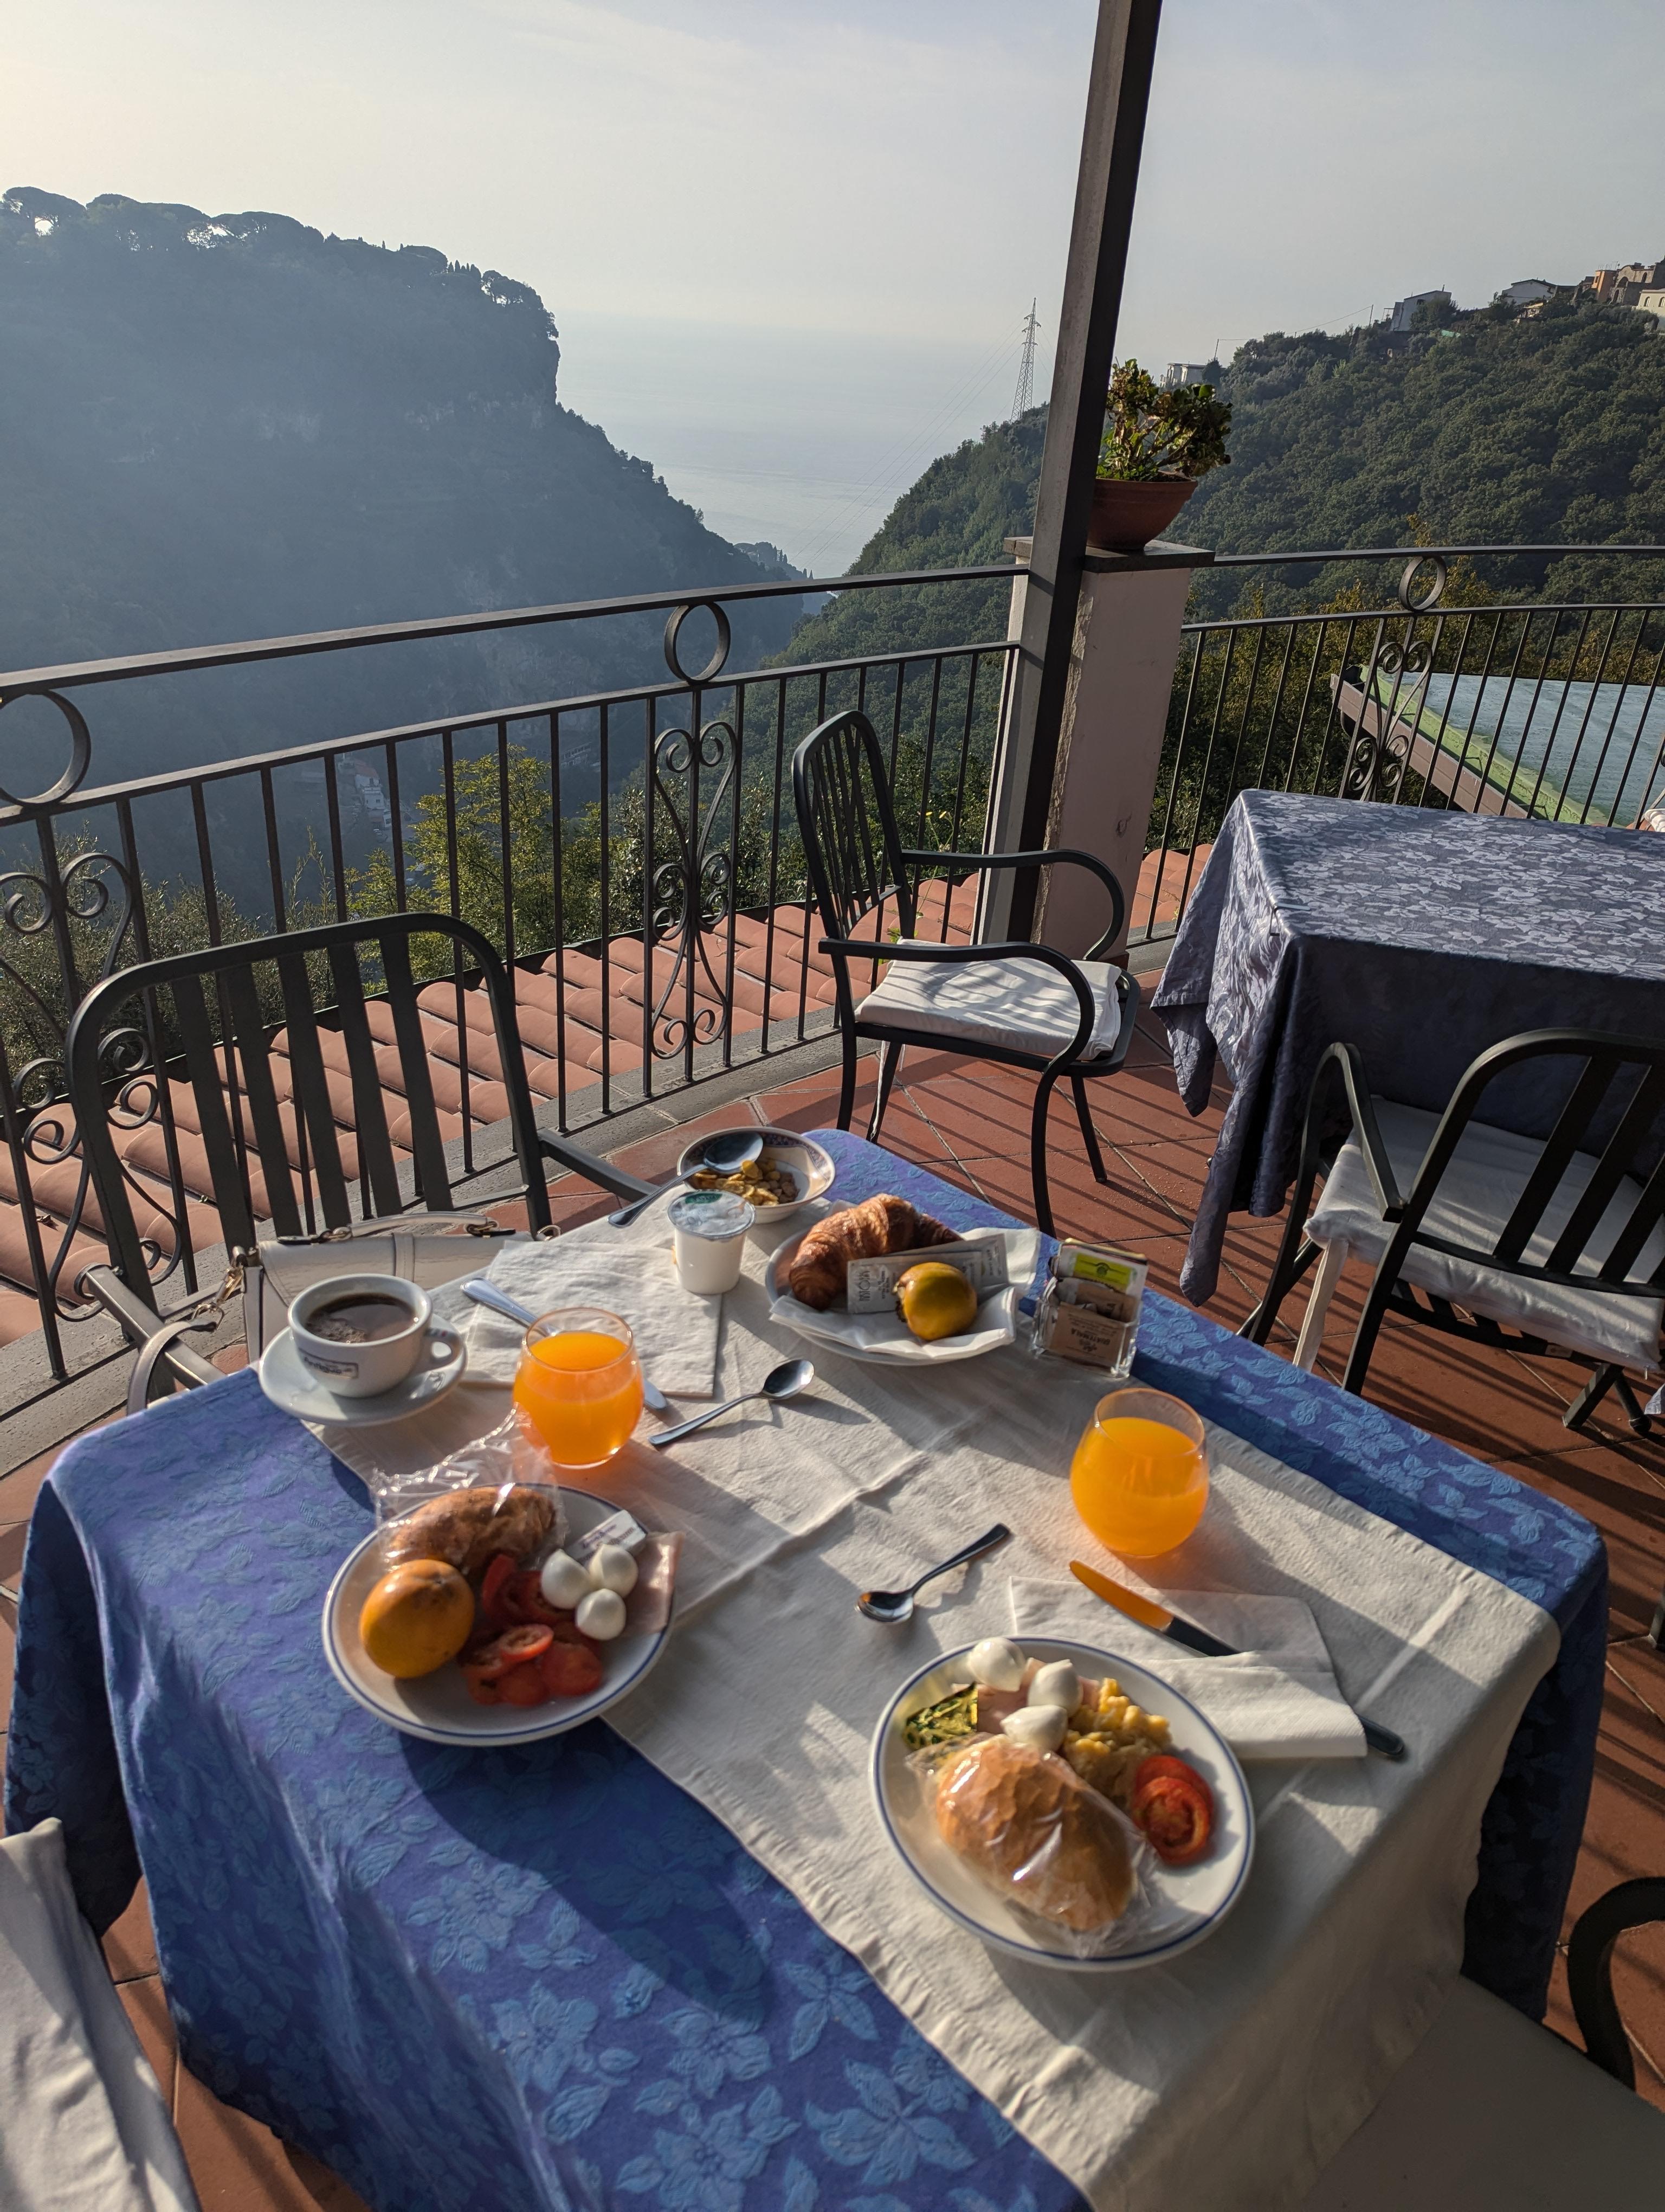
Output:
[[1656,546],[1391,546],[1221,568],[1404,560],[1395,604],[1185,624],[1134,902],[1167,938],[1243,790],[1634,827],[1665,794],[1665,604],[1506,604],[1486,555],[1661,560]]

